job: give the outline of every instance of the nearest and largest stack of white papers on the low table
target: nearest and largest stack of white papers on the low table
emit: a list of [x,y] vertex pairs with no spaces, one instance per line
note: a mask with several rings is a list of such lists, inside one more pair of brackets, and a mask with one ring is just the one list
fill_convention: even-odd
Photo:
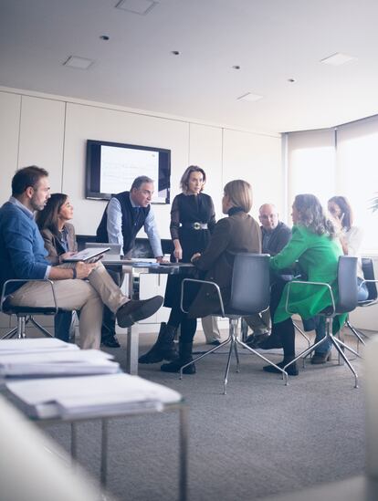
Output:
[[161,384],[129,374],[18,381],[6,384],[37,418],[106,417],[163,409],[181,395]]

